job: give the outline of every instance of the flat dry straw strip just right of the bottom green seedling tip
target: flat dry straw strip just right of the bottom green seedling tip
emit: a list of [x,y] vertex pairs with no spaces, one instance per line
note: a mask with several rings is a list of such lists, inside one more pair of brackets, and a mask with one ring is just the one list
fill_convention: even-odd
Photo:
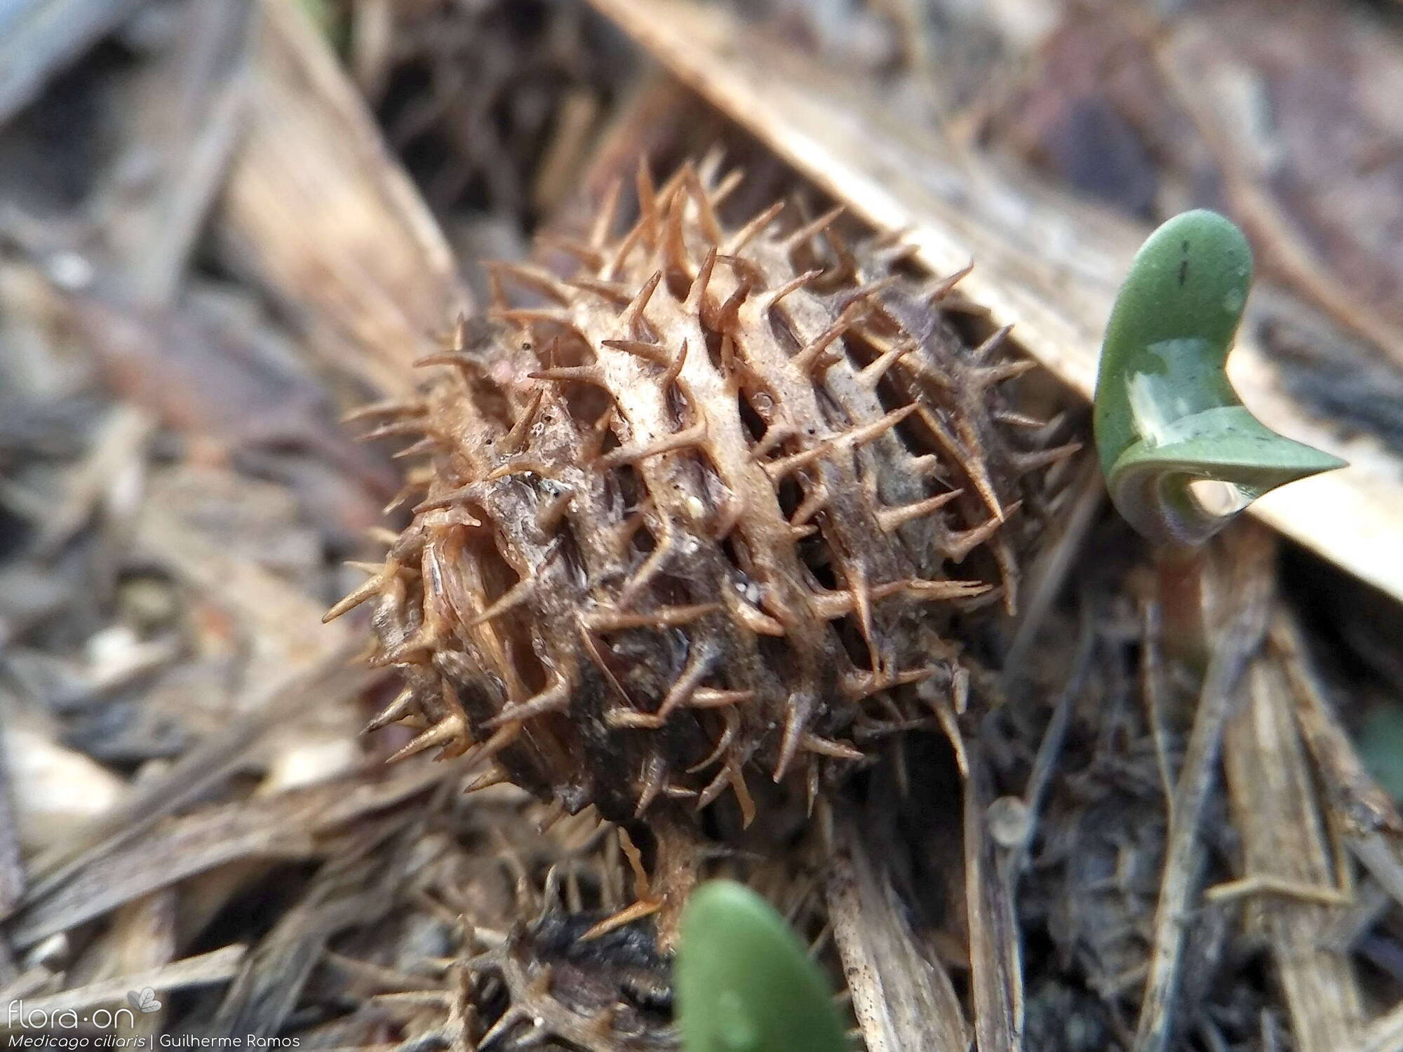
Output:
[[868,1052],[902,1052],[927,1042],[939,1049],[967,1048],[969,1030],[950,976],[916,947],[861,832],[845,821],[836,840],[828,910]]

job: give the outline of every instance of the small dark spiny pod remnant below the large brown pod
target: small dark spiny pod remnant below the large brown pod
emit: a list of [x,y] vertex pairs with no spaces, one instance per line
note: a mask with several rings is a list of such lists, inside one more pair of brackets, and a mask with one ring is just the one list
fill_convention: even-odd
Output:
[[[474,844],[428,885],[462,903],[460,941],[438,990],[382,1002],[398,1009],[403,1046],[676,1052],[672,958],[652,919],[622,919],[630,893],[647,893],[637,851],[588,816],[532,836],[539,811],[516,812],[523,828],[501,837],[495,865]],[[811,889],[780,885],[805,933]]]

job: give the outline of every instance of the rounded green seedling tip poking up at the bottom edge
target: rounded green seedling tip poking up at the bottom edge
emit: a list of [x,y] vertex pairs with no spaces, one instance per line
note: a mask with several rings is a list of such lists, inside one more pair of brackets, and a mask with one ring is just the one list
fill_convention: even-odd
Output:
[[822,973],[784,919],[732,881],[682,913],[678,1016],[686,1052],[845,1052]]

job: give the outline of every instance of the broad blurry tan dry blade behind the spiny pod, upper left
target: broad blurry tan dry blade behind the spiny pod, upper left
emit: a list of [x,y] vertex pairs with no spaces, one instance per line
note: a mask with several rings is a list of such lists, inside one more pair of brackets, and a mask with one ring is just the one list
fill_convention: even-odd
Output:
[[219,233],[334,367],[386,393],[467,306],[452,254],[295,0],[265,0]]

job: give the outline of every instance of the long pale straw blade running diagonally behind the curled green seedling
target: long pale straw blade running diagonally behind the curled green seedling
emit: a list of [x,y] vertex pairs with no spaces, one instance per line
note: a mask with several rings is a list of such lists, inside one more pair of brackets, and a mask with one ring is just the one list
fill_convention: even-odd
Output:
[[[1020,182],[929,129],[892,119],[871,93],[835,84],[832,69],[763,46],[724,11],[693,0],[592,0],[680,80],[794,164],[854,215],[909,230],[936,274],[978,261],[961,289],[995,325],[1072,387],[1090,394],[1111,300],[1145,230]],[[1364,581],[1403,599],[1392,539],[1403,520],[1403,464],[1375,438],[1341,440],[1282,390],[1281,375],[1244,339],[1237,389],[1277,431],[1351,467],[1285,487],[1256,515]]]

